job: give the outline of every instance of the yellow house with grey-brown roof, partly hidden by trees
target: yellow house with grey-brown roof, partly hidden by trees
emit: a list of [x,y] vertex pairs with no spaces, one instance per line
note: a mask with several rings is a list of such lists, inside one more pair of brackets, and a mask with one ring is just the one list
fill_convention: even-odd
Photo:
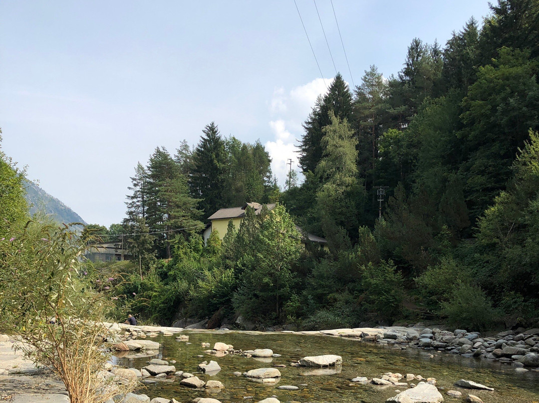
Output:
[[[230,207],[228,209],[217,210],[210,217],[208,217],[210,223],[206,225],[206,229],[203,233],[204,245],[206,245],[206,242],[208,242],[208,238],[210,238],[210,234],[213,231],[218,231],[219,238],[223,240],[226,235],[226,232],[228,231],[230,220],[232,220],[234,227],[236,227],[236,231],[238,231],[239,225],[245,217],[245,209],[247,208],[247,206],[252,207],[254,209],[254,214],[257,216],[262,211],[262,204],[260,203],[245,203],[245,205],[241,207]],[[266,207],[269,211],[271,211],[274,209],[275,203],[266,204]],[[329,251],[328,241],[326,239],[318,237],[317,235],[303,232],[301,228],[297,225],[296,230],[298,230],[298,232],[300,232],[302,235],[301,243],[303,244],[303,246],[305,246],[307,242],[309,242],[320,247],[320,249]]]

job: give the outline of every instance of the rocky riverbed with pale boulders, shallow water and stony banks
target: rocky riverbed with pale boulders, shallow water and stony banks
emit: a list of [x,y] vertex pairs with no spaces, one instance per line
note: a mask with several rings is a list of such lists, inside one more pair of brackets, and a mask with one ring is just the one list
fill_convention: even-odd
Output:
[[[109,345],[123,351],[110,373],[141,385],[123,403],[539,401],[539,372],[528,364],[539,348],[533,329],[482,337],[424,326],[272,333],[111,326],[117,337]],[[61,383],[11,345],[0,342],[0,399],[68,401]]]

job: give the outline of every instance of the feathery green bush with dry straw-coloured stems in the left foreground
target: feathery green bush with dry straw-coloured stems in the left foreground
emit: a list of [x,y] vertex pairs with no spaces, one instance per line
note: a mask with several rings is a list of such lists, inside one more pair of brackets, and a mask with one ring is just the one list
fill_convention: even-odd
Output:
[[102,403],[133,387],[111,388],[100,378],[109,360],[101,347],[110,286],[98,292],[94,284],[105,280],[83,270],[84,242],[68,226],[35,221],[8,236],[0,241],[2,330],[64,381],[73,403]]

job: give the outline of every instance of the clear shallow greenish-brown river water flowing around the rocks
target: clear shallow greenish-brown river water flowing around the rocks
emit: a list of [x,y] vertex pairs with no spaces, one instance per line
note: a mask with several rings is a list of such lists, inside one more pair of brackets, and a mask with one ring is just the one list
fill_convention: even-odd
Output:
[[[485,403],[531,403],[539,402],[539,372],[529,371],[524,374],[515,372],[510,365],[487,360],[463,358],[446,353],[434,353],[429,358],[428,351],[408,348],[391,350],[370,343],[329,336],[307,336],[289,333],[220,332],[220,331],[184,331],[189,335],[189,343],[177,342],[174,336],[156,337],[152,340],[162,344],[158,355],[146,358],[118,358],[118,364],[125,367],[141,369],[150,358],[176,360],[176,370],[185,371],[198,376],[204,381],[215,379],[221,381],[225,388],[220,391],[192,390],[180,386],[179,379],[169,377],[157,384],[140,388],[137,393],[145,393],[150,398],[175,398],[187,402],[197,397],[212,397],[225,402],[258,401],[275,395],[281,402],[361,402],[378,403],[396,395],[396,390],[405,388],[395,386],[360,385],[349,386],[350,379],[365,376],[381,377],[384,372],[413,373],[424,378],[433,377],[437,386],[443,387],[440,392],[445,402],[462,402],[468,393],[480,397]],[[272,349],[282,357],[246,358],[243,356],[215,357],[203,353],[203,342],[232,344],[237,350],[254,350],[257,348]],[[290,363],[305,356],[336,354],[342,356],[343,365],[338,371],[314,370],[290,366]],[[197,357],[203,355],[204,357]],[[214,376],[201,374],[198,364],[215,360],[222,370]],[[255,383],[245,377],[237,377],[233,372],[246,372],[257,368],[279,367],[281,379],[275,385]],[[335,373],[338,372],[338,373]],[[150,378],[152,379],[152,378]],[[468,379],[494,388],[489,391],[469,391],[453,386],[459,379]],[[404,381],[404,380],[403,380]],[[417,381],[414,381],[417,383]],[[280,385],[299,386],[297,391],[278,390]],[[462,398],[452,398],[445,394],[447,390],[459,390]],[[251,400],[245,397],[253,397]]]

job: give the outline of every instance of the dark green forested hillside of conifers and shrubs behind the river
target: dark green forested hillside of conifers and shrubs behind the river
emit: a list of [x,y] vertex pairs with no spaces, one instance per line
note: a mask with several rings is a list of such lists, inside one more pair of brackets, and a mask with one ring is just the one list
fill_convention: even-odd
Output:
[[[280,191],[264,147],[213,122],[194,149],[157,148],[127,218],[97,231],[140,234],[125,237],[136,265],[121,265],[119,301],[212,327],[537,321],[538,70],[539,2],[500,0],[445,45],[412,39],[396,75],[373,65],[350,88],[337,74],[303,124],[300,185]],[[246,201],[279,205],[203,247],[205,218]],[[303,251],[294,223],[329,253]]]

